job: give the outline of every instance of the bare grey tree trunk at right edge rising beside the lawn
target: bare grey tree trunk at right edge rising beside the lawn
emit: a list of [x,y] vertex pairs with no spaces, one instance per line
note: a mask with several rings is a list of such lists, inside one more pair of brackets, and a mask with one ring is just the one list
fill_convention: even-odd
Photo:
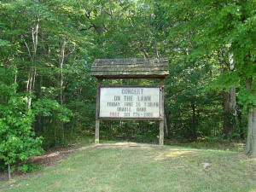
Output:
[[246,154],[256,157],[256,106],[248,110],[248,132]]

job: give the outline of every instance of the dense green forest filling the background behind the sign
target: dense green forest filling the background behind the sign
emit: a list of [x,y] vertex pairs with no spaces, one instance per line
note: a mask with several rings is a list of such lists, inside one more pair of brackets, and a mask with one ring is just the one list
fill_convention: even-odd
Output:
[[[255,156],[255,4],[1,1],[0,169],[94,135],[90,67],[99,58],[167,58],[166,141],[247,141]],[[110,83],[160,84],[102,84]],[[101,137],[157,143],[158,128],[157,121],[102,121]]]

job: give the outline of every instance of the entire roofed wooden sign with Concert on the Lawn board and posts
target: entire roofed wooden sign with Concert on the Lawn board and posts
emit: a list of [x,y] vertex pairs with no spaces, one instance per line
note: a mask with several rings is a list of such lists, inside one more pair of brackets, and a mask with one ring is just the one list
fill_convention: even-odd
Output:
[[[95,143],[100,143],[102,119],[157,120],[164,144],[164,79],[166,58],[96,59],[90,75],[97,79]],[[102,86],[103,79],[160,79],[160,86]]]

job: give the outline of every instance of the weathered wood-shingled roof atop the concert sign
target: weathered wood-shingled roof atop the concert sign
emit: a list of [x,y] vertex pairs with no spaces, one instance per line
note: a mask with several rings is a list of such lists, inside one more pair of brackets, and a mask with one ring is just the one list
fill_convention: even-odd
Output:
[[165,78],[169,75],[168,60],[146,59],[96,59],[91,67],[96,78]]

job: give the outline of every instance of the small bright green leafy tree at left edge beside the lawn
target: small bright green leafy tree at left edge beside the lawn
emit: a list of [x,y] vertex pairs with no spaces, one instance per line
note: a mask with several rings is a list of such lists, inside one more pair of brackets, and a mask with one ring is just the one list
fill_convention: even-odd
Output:
[[0,162],[3,163],[0,168],[9,166],[11,170],[44,151],[41,148],[43,138],[35,138],[32,131],[34,114],[31,109],[27,110],[27,98],[16,92],[16,83],[10,83],[15,73],[13,67],[0,68],[0,95],[5,102],[0,103]]

